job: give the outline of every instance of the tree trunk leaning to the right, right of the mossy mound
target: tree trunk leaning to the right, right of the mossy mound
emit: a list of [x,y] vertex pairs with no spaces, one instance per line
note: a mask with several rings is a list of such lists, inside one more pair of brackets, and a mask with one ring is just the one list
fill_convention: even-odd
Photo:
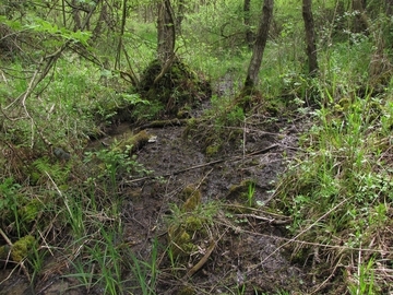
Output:
[[252,90],[258,82],[258,74],[261,68],[263,51],[266,46],[269,27],[273,16],[274,0],[264,0],[260,26],[258,28],[255,44],[252,49],[250,66],[247,71],[245,90]]

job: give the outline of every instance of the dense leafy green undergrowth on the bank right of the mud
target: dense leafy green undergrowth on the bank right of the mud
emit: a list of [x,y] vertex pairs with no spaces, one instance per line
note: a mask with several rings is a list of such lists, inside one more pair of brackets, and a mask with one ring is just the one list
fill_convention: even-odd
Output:
[[294,219],[293,259],[325,261],[319,275],[334,271],[350,294],[385,294],[389,253],[380,250],[392,243],[392,96],[321,106],[311,121],[275,198]]

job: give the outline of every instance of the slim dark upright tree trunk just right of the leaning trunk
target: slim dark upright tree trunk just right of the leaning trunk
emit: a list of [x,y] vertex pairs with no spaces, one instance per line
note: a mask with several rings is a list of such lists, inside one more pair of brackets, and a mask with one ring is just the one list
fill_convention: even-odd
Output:
[[315,31],[312,16],[311,0],[302,0],[302,17],[306,30],[307,57],[309,63],[310,75],[318,73]]

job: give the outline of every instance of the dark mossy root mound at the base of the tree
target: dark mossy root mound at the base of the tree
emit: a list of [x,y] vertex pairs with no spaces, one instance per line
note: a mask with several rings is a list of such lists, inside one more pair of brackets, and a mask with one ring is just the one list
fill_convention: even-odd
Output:
[[153,60],[142,73],[138,91],[152,104],[160,104],[164,114],[176,115],[186,106],[193,107],[211,97],[210,82],[200,78],[179,59],[157,79],[162,71],[160,62]]

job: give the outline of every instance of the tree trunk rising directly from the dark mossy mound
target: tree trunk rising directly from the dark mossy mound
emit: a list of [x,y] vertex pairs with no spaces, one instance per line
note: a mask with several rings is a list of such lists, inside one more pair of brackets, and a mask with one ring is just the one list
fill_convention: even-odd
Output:
[[170,0],[158,3],[157,31],[157,58],[164,66],[172,58],[175,50],[175,22]]

